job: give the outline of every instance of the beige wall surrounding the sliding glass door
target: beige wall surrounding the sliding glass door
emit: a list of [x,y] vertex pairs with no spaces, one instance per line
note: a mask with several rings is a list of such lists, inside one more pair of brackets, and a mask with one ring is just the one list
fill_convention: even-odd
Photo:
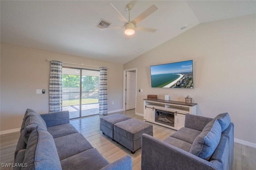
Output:
[[[108,111],[122,109],[123,64],[1,43],[0,131],[19,128],[27,108],[48,113],[50,62],[46,59],[108,67]],[[36,89],[46,93],[36,94]]]

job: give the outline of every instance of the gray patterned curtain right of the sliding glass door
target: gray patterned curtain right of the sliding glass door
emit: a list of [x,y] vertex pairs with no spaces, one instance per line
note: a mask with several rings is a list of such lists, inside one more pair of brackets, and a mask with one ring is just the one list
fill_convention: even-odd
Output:
[[99,114],[108,114],[108,70],[100,67],[100,86],[99,86]]

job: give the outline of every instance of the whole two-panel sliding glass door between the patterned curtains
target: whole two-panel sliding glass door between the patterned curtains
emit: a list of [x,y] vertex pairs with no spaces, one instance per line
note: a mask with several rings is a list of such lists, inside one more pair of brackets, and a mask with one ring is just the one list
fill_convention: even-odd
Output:
[[70,119],[99,114],[98,70],[62,68],[62,110]]

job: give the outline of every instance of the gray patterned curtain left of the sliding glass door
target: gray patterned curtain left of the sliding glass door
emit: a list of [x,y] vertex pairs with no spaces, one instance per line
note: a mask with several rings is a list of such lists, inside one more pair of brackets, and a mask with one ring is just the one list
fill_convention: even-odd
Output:
[[49,111],[62,111],[62,62],[51,61]]

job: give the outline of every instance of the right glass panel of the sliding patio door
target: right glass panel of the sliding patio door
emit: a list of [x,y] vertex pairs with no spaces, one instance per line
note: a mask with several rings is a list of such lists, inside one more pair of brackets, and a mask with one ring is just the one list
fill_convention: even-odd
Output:
[[99,114],[99,77],[99,71],[82,70],[82,117]]

